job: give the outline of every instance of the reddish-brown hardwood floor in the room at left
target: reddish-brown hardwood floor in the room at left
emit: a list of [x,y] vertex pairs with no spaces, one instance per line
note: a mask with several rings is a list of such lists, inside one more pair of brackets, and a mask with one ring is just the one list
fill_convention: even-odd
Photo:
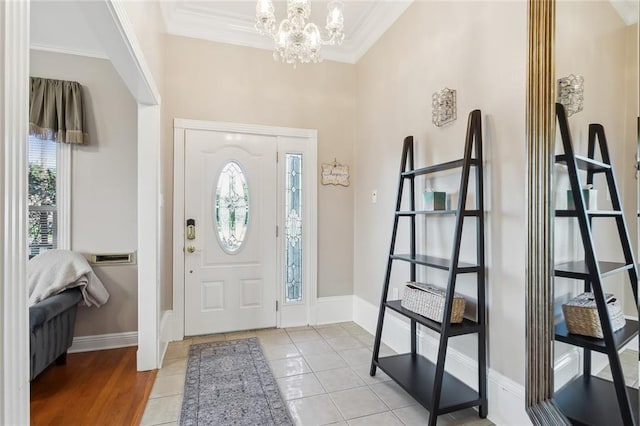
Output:
[[67,355],[31,382],[32,425],[138,425],[157,370],[136,371],[136,347]]

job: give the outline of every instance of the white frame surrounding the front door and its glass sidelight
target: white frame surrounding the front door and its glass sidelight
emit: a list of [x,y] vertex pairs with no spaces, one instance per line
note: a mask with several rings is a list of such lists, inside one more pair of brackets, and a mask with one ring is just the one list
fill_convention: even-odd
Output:
[[[304,185],[308,198],[305,199],[304,223],[309,224],[304,231],[304,250],[305,256],[305,272],[304,279],[306,303],[306,324],[315,323],[315,307],[318,294],[317,279],[317,240],[318,240],[318,224],[317,224],[317,200],[318,200],[318,162],[317,162],[317,141],[318,131],[314,129],[296,129],[289,127],[274,127],[253,124],[217,122],[217,121],[201,121],[175,118],[173,120],[174,129],[174,151],[173,151],[173,311],[174,317],[174,333],[176,339],[184,338],[184,161],[185,161],[185,131],[187,130],[209,130],[217,132],[244,133],[253,135],[275,136],[287,139],[300,139],[306,144],[304,151],[305,167],[307,172],[304,176]],[[275,159],[274,159],[275,160]],[[278,183],[280,183],[280,168],[278,167]],[[278,190],[280,187],[278,187]],[[283,197],[278,194],[278,221],[280,222]],[[282,232],[280,232],[282,235]],[[281,237],[277,240],[278,246],[278,262],[282,263],[283,245],[280,244]],[[283,268],[278,265],[278,278],[276,294],[278,295],[278,303],[283,306],[284,303],[284,284],[282,272]],[[278,309],[276,314],[277,327],[290,327],[294,324],[284,323],[282,318],[282,309]],[[298,324],[303,325],[303,324]]]

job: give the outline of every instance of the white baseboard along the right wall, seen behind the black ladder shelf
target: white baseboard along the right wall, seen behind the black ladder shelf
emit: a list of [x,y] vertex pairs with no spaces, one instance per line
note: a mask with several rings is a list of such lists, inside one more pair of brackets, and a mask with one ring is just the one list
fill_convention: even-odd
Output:
[[[387,311],[382,341],[396,352],[408,352],[410,327],[408,321]],[[353,321],[368,332],[374,334],[378,318],[378,307],[354,296]],[[418,333],[420,352],[435,360],[438,340],[424,332]],[[478,367],[475,360],[449,348],[447,351],[448,371],[468,386],[478,386]],[[489,402],[489,420],[496,425],[530,425],[531,420],[525,411],[524,386],[503,376],[499,372],[487,369],[487,400]]]

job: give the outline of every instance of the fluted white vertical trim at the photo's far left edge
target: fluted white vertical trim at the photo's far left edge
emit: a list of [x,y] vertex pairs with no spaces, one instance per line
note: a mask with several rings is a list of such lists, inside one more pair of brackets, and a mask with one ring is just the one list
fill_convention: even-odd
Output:
[[29,424],[28,1],[0,2],[0,423]]

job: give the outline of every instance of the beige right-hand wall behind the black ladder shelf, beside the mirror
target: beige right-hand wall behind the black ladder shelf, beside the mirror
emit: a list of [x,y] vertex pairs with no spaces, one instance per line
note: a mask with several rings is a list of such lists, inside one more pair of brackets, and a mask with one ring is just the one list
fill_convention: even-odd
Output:
[[[360,60],[356,75],[355,295],[379,303],[403,138],[414,135],[418,166],[461,158],[467,115],[481,109],[489,367],[517,383],[525,370],[526,22],[526,2],[415,2]],[[437,128],[431,95],[444,87],[457,90],[458,120]],[[429,185],[455,191],[455,181]],[[428,248],[446,253],[452,221],[436,226]],[[406,244],[403,234],[399,244]],[[392,286],[407,278],[394,274]],[[453,339],[452,346],[476,359],[475,340]]]

